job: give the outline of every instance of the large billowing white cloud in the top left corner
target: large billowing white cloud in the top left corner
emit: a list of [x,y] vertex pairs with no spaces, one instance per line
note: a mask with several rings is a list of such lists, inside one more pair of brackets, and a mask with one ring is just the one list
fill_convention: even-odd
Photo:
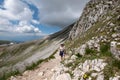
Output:
[[33,12],[21,0],[5,0],[3,7],[5,10],[0,10],[0,17],[2,18],[9,20],[32,20]]

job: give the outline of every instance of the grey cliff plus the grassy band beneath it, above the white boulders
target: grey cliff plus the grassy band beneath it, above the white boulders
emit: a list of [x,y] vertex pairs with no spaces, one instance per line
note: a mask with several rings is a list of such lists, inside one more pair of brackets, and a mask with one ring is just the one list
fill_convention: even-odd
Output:
[[[120,0],[91,0],[83,10],[80,19],[70,31],[73,47],[89,40],[108,42],[119,49],[120,42]],[[83,41],[84,40],[84,41]],[[98,40],[98,41],[97,41]],[[92,43],[95,42],[89,41]],[[78,44],[79,42],[79,44]],[[96,44],[97,45],[97,44]],[[119,51],[111,49],[119,58]]]

